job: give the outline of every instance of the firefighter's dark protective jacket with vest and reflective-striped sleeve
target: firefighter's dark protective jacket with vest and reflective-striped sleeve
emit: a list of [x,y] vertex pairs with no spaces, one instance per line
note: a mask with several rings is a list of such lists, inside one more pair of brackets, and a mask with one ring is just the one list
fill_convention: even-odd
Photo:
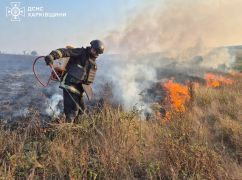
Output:
[[90,85],[93,83],[97,71],[96,58],[90,53],[90,47],[87,48],[60,48],[52,51],[49,56],[51,59],[60,59],[70,57],[66,72],[61,82],[61,88],[67,88],[73,93],[80,94],[77,85]]

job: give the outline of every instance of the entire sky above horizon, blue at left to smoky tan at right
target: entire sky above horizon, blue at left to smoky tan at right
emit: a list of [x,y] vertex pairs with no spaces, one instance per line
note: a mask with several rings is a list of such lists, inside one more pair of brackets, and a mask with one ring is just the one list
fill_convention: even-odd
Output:
[[[19,22],[11,21],[12,1],[21,3],[20,10],[25,8]],[[5,53],[36,50],[46,55],[66,45],[85,47],[100,39],[106,53],[187,57],[208,48],[242,44],[241,0],[12,1],[0,1],[0,51]],[[66,16],[29,17],[29,7]]]

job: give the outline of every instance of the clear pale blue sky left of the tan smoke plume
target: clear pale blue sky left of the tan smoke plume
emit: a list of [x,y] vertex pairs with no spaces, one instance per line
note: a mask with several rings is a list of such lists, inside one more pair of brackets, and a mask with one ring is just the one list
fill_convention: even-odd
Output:
[[[19,16],[20,21],[11,21],[11,16],[6,16],[6,8],[12,8],[11,2],[20,2],[21,8],[25,8],[25,17]],[[124,28],[129,15],[143,6],[141,0],[1,0],[0,51],[21,54],[36,50],[45,55],[66,45],[88,46],[91,40]],[[41,12],[66,13],[66,16],[27,17],[28,7],[42,7]]]

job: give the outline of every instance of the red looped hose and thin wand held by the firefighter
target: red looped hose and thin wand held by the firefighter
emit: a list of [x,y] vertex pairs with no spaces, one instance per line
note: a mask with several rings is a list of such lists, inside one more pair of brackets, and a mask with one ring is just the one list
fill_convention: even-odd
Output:
[[[49,83],[50,83],[50,80],[51,80],[51,77],[52,77],[52,76],[50,75],[49,79],[47,80],[47,83],[43,83],[43,82],[40,80],[40,78],[38,77],[38,75],[36,74],[36,71],[35,71],[35,65],[36,65],[36,62],[37,62],[38,60],[44,58],[44,57],[45,57],[45,56],[39,56],[39,57],[35,58],[34,63],[33,63],[33,73],[34,73],[35,78],[37,79],[37,81],[38,81],[43,87],[47,87],[47,86],[49,85]],[[52,72],[55,74],[57,80],[61,83],[61,78],[60,78],[60,76],[58,75],[58,73],[56,72],[54,66],[53,66],[52,64],[50,64],[49,66],[50,66]],[[51,72],[51,74],[52,74],[52,72]],[[74,98],[72,97],[72,95],[70,94],[69,90],[66,89],[65,87],[63,87],[63,88],[64,88],[64,90],[68,93],[68,95],[70,96],[70,98],[72,99],[72,101],[76,104],[76,106],[78,107],[78,109],[79,109],[81,112],[83,112],[83,110],[81,109],[81,107],[79,106],[79,104],[75,101],[75,99],[74,99]],[[83,113],[84,113],[84,112],[83,112]]]

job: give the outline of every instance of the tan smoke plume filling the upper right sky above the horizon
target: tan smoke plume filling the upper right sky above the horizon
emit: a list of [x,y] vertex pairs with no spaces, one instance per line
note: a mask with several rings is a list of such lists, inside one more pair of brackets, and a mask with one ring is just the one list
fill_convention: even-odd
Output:
[[105,38],[110,53],[162,52],[188,58],[242,41],[239,0],[154,1]]

